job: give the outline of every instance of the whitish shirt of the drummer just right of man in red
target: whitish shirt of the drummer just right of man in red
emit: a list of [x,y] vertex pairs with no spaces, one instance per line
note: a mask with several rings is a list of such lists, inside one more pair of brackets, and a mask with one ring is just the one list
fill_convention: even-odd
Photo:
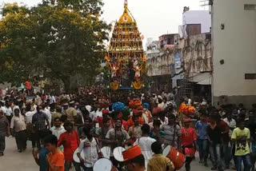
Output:
[[81,141],[78,152],[81,153],[82,151],[86,161],[84,165],[88,168],[92,168],[95,162],[98,161],[98,153],[100,152],[96,139],[93,137],[92,141],[89,141],[87,138]]

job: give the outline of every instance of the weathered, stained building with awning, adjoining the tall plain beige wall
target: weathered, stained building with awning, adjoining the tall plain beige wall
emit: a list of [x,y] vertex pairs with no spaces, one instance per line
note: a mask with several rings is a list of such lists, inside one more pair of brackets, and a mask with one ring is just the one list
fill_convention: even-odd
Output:
[[[176,76],[172,78],[173,87],[180,87],[181,96],[205,97],[210,101],[212,56],[211,34],[191,35],[178,42],[178,55],[182,57],[182,72],[176,67]],[[179,58],[178,58],[179,59]],[[175,56],[175,66],[177,65]]]

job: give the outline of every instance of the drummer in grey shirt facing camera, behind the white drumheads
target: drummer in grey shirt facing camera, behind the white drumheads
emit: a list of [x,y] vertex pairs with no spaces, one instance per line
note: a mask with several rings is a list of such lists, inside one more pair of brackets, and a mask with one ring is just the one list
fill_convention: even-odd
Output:
[[118,161],[114,159],[113,150],[116,147],[124,147],[125,145],[130,144],[130,136],[126,130],[122,129],[122,118],[117,118],[115,120],[114,129],[110,129],[106,133],[107,143],[111,146],[110,160],[113,162],[113,165],[118,166]]

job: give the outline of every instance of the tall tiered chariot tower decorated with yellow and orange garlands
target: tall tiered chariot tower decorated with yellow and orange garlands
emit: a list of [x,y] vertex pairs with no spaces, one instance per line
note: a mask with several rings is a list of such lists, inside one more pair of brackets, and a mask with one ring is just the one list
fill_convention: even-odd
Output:
[[120,87],[142,89],[143,78],[146,76],[146,58],[142,47],[142,36],[128,9],[127,0],[121,18],[114,24],[105,59],[111,72],[112,89],[116,90]]

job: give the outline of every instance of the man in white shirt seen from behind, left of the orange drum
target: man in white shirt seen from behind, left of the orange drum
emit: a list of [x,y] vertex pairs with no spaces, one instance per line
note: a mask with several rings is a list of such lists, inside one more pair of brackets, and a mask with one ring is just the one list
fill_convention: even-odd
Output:
[[149,137],[150,134],[150,125],[144,124],[142,125],[142,137],[138,138],[134,145],[139,145],[139,148],[142,151],[142,154],[145,158],[145,167],[147,169],[147,162],[150,158],[153,157],[153,152],[151,149],[151,145],[156,141],[154,138]]

